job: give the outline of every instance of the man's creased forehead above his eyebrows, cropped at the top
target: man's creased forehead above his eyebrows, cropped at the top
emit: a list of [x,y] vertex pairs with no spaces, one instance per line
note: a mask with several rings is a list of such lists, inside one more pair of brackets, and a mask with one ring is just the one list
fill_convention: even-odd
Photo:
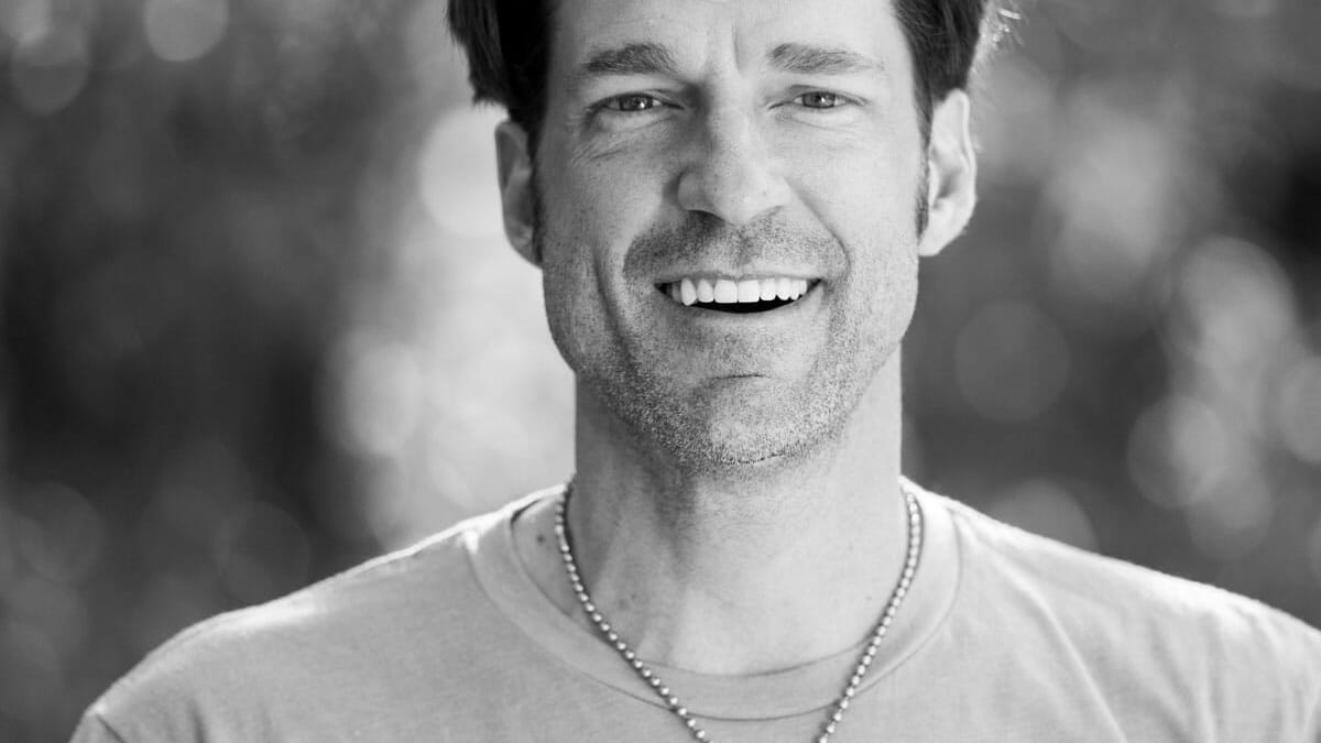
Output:
[[552,25],[552,85],[630,44],[664,48],[686,73],[724,61],[746,67],[785,45],[852,52],[897,73],[910,66],[892,0],[556,0]]

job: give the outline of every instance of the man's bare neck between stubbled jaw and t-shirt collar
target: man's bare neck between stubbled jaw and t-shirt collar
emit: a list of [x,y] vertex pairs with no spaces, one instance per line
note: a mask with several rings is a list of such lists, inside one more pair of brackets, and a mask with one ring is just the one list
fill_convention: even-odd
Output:
[[[584,406],[592,401],[580,390],[573,554],[594,603],[641,657],[766,673],[868,636],[906,549],[897,356],[844,430],[793,461],[680,472]],[[536,520],[543,551],[547,518]],[[560,562],[524,561],[587,625]]]

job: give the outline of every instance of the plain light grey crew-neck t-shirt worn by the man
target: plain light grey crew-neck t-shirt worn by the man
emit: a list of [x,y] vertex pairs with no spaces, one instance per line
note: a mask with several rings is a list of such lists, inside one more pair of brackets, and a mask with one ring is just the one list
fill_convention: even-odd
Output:
[[[513,517],[557,493],[182,632],[89,709],[74,740],[690,739],[524,571]],[[919,501],[921,567],[832,740],[1321,742],[1317,631]],[[712,740],[806,742],[860,649],[760,676],[654,668]]]

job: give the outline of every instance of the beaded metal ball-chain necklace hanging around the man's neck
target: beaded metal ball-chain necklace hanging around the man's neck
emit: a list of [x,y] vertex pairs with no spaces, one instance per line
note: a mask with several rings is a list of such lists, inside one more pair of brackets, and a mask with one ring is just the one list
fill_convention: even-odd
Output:
[[[568,518],[565,513],[568,512],[569,493],[573,489],[573,483],[569,481],[564,487],[564,496],[555,508],[555,537],[560,543],[560,557],[564,558],[564,570],[568,572],[569,583],[573,586],[573,594],[577,596],[579,603],[583,606],[583,611],[587,612],[588,619],[592,624],[601,632],[601,635],[620,652],[620,656],[633,668],[633,670],[646,682],[653,691],[655,691],[660,701],[664,702],[666,707],[670,709],[688,728],[688,732],[696,740],[711,742],[707,731],[701,728],[696,718],[688,713],[688,709],[679,702],[679,698],[671,693],[670,687],[660,681],[647,664],[642,662],[633,648],[620,637],[620,633],[610,627],[606,621],[605,615],[601,609],[592,603],[592,596],[587,592],[587,586],[583,584],[583,576],[579,574],[577,562],[573,559],[573,551],[569,549],[569,534],[568,534]],[[900,611],[900,604],[904,603],[904,596],[908,595],[909,587],[913,584],[913,575],[917,572],[918,557],[922,554],[922,509],[918,506],[917,497],[909,490],[909,488],[902,487],[904,490],[904,505],[908,506],[908,555],[904,559],[904,572],[900,574],[900,582],[894,586],[894,591],[890,594],[890,600],[885,604],[885,611],[881,613],[881,620],[876,624],[872,631],[872,639],[867,643],[867,648],[863,650],[863,656],[859,658],[857,665],[853,668],[853,676],[848,680],[848,685],[844,686],[844,693],[840,694],[839,699],[831,705],[831,714],[826,718],[826,723],[822,726],[820,735],[816,736],[816,743],[828,743],[831,735],[839,727],[841,719],[844,719],[844,713],[848,710],[848,705],[852,702],[853,695],[857,694],[859,686],[863,684],[863,677],[867,676],[867,669],[871,668],[872,661],[876,660],[876,649],[881,644],[881,639],[889,631],[890,624],[894,621],[894,615]]]

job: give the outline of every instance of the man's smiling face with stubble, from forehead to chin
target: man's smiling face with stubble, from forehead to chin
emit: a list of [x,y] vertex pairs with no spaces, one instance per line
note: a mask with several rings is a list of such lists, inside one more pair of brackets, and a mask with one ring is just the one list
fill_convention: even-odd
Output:
[[890,4],[557,0],[553,26],[535,250],[588,407],[701,469],[839,432],[917,293]]

